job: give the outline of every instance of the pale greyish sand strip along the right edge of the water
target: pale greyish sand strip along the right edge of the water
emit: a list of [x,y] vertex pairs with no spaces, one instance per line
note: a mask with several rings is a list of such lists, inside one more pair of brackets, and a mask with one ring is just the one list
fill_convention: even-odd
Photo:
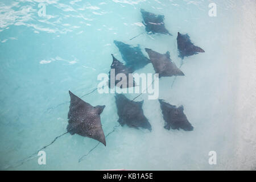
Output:
[[245,0],[240,26],[237,123],[234,169],[256,170],[256,1]]

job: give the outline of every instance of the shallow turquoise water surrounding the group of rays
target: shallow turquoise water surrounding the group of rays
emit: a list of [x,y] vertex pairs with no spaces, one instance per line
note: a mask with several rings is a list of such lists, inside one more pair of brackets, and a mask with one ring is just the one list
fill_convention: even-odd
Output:
[[[46,3],[46,16],[38,4]],[[239,35],[242,1],[215,1],[217,16],[209,17],[212,1],[3,1],[0,6],[0,168],[1,169],[227,169],[234,157],[237,97],[237,61],[234,46]],[[146,35],[140,9],[165,15],[174,36]],[[108,73],[111,53],[121,55],[113,40],[160,53],[171,52],[180,64],[177,32],[188,33],[205,53],[184,59],[184,77],[161,78],[160,98],[184,105],[195,130],[167,131],[157,100],[143,94],[143,110],[152,132],[118,127],[82,162],[96,140],[64,135],[45,151],[47,164],[30,156],[65,133],[71,90],[77,96],[94,89],[97,76]],[[146,52],[144,52],[146,55]],[[154,73],[151,64],[138,73]],[[127,97],[134,98],[131,94]],[[106,105],[101,114],[105,134],[118,125],[113,94],[82,98],[92,105]],[[216,151],[218,165],[208,164]]]

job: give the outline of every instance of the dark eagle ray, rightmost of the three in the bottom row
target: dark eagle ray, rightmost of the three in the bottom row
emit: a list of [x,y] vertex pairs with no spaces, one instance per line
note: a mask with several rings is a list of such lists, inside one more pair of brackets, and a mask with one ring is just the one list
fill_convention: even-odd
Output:
[[163,114],[163,119],[166,122],[166,125],[164,126],[165,129],[183,129],[185,131],[193,130],[193,126],[188,122],[188,119],[183,112],[183,106],[176,107],[168,104],[167,102],[164,102],[163,100],[159,100],[159,102]]

